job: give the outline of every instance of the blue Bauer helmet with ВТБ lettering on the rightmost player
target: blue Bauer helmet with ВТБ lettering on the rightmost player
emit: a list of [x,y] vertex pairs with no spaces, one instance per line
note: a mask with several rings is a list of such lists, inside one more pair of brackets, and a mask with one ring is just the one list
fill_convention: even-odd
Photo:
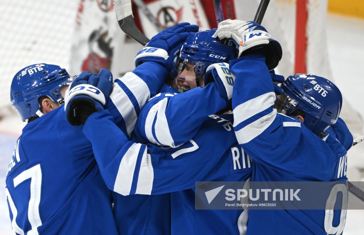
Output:
[[335,124],[341,110],[343,97],[340,90],[328,79],[310,74],[289,76],[281,86],[277,111],[289,115],[294,110],[305,113],[304,125],[320,136]]

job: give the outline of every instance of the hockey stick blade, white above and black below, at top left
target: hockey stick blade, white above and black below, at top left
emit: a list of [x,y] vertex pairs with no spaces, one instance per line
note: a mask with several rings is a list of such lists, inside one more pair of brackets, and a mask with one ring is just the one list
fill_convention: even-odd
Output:
[[130,38],[145,46],[149,39],[138,30],[134,22],[134,16],[131,10],[131,0],[113,0],[116,19],[118,19],[121,30]]

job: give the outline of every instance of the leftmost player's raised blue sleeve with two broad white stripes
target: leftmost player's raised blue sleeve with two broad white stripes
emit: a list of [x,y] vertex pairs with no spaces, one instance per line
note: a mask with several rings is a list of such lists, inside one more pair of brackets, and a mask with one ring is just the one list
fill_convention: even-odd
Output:
[[159,92],[167,75],[168,71],[161,64],[145,62],[115,79],[107,109],[124,133],[130,136],[141,109]]

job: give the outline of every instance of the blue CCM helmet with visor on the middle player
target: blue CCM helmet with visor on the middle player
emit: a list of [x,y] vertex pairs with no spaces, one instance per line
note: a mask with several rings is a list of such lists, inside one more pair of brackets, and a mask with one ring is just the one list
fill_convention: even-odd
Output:
[[[207,67],[214,63],[228,62],[238,58],[238,47],[230,39],[218,41],[213,37],[216,28],[199,31],[190,35],[183,43],[181,53],[176,61],[174,76],[176,83],[186,66],[192,67],[197,86],[199,79],[205,74]],[[178,85],[177,85],[178,86]],[[182,89],[182,91],[188,89]]]

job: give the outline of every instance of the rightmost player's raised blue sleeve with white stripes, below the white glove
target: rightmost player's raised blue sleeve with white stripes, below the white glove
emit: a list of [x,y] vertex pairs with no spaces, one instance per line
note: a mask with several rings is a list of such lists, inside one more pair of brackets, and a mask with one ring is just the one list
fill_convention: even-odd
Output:
[[[296,148],[302,134],[301,122],[277,114],[273,108],[276,95],[264,59],[249,55],[230,62],[236,75],[232,98],[234,131],[254,161],[287,176],[294,175],[302,171],[308,158],[308,154],[297,153]],[[313,133],[312,138],[320,140]]]

